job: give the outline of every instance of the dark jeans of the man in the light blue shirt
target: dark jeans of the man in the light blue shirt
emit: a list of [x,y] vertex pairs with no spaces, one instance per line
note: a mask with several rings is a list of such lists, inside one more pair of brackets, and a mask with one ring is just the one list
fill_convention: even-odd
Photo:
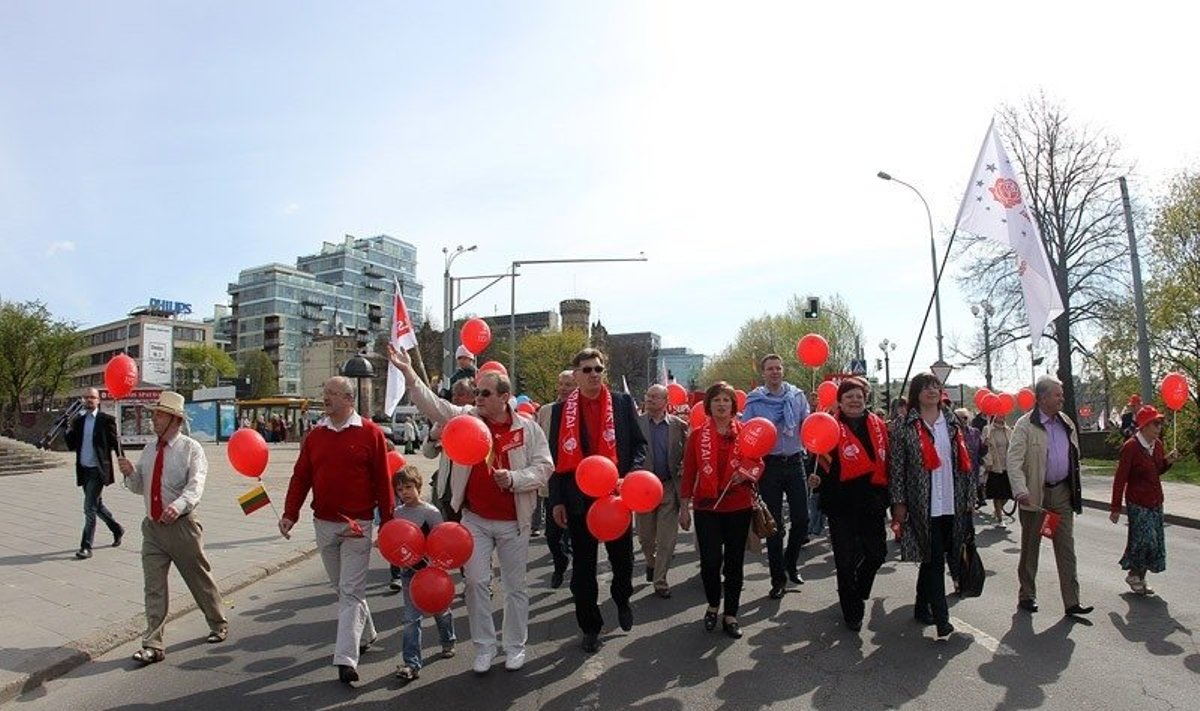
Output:
[[[802,542],[809,537],[809,489],[804,483],[804,458],[800,455],[768,456],[766,465],[758,494],[779,524],[779,532],[767,539],[767,564],[770,567],[770,584],[782,585],[787,581],[787,572],[796,569]],[[791,525],[784,524],[785,496]]]

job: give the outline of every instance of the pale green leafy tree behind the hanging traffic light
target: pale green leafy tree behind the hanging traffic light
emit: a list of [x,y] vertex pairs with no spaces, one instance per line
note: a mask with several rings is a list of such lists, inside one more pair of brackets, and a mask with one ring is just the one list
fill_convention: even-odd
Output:
[[[746,321],[733,342],[701,371],[700,387],[725,381],[734,388],[749,390],[760,383],[758,360],[767,353],[782,357],[785,378],[804,390],[828,374],[844,372],[856,357],[856,335],[860,327],[839,295],[822,301],[820,318],[804,318],[806,307],[806,300],[793,294],[782,313],[764,313]],[[817,369],[810,369],[796,358],[796,345],[810,333],[820,334],[829,342],[829,358]]]

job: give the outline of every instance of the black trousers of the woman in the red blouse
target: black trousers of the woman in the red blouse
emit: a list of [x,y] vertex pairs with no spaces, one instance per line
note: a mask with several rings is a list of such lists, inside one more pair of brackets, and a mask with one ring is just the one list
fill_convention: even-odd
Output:
[[724,578],[725,614],[736,617],[742,603],[750,509],[721,513],[698,510],[695,520],[700,580],[704,584],[708,607],[720,607]]

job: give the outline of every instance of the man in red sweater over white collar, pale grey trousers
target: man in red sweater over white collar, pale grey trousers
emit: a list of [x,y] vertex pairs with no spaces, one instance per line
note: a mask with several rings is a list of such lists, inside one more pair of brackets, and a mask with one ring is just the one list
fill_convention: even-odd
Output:
[[280,533],[292,537],[300,506],[312,491],[312,525],[329,581],[337,590],[337,643],[334,665],[342,683],[359,680],[359,655],[376,639],[367,607],[367,569],[374,513],[391,520],[392,488],[388,440],[354,408],[354,386],[336,376],[322,389],[325,417],[300,443],[288,482]]

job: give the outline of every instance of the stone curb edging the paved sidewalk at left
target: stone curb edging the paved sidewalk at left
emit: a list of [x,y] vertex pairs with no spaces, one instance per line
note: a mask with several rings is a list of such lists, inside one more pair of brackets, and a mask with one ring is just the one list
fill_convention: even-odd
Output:
[[[317,552],[316,544],[304,549],[281,561],[269,566],[258,566],[230,574],[217,581],[221,597],[224,598],[239,590],[258,582],[259,580],[278,573],[280,570],[304,562]],[[172,609],[167,615],[167,621],[176,620],[187,613],[197,609],[196,601],[190,593],[182,593],[169,601]],[[104,629],[92,634],[86,639],[72,641],[56,650],[50,650],[41,655],[30,657],[20,667],[28,669],[22,671],[16,669],[17,677],[0,686],[0,706],[16,699],[17,697],[42,686],[52,679],[56,679],[68,671],[91,662],[96,657],[106,655],[114,649],[132,641],[142,635],[145,629],[145,615],[139,614],[124,622],[115,622]]]

